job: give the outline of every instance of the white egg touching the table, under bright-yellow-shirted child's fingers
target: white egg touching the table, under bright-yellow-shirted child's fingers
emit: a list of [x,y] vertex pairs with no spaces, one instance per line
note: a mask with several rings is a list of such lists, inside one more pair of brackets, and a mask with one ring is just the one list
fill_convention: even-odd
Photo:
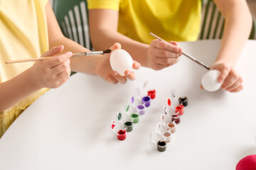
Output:
[[210,70],[203,75],[202,78],[202,86],[206,91],[217,91],[220,89],[221,84],[217,81],[220,75],[220,71],[218,70]]

